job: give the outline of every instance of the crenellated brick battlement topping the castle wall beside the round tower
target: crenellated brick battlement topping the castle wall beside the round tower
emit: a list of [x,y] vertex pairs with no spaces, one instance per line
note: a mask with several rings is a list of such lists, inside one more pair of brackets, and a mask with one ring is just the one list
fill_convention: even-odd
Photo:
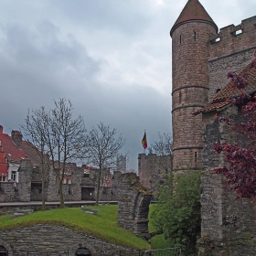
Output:
[[256,48],[256,16],[244,19],[240,25],[229,25],[209,37],[208,59],[228,56],[244,49]]

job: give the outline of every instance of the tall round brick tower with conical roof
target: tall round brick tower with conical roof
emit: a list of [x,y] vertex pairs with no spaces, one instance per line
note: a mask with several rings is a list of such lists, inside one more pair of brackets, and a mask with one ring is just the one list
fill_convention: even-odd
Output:
[[188,0],[170,31],[173,73],[174,169],[196,169],[202,158],[202,116],[208,103],[208,42],[218,27],[197,0]]

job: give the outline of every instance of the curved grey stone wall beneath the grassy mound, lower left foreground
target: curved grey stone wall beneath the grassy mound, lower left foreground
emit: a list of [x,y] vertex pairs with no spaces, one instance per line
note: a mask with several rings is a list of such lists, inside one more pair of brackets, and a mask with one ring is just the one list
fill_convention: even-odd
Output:
[[76,251],[80,248],[89,249],[92,256],[101,255],[101,253],[105,256],[120,255],[119,251],[126,251],[122,255],[134,255],[131,248],[63,227],[41,224],[23,229],[0,230],[0,246],[5,247],[8,256],[25,256],[27,251],[37,255],[47,252],[53,253],[50,255],[65,255],[64,252],[69,251],[69,255],[76,255]]

